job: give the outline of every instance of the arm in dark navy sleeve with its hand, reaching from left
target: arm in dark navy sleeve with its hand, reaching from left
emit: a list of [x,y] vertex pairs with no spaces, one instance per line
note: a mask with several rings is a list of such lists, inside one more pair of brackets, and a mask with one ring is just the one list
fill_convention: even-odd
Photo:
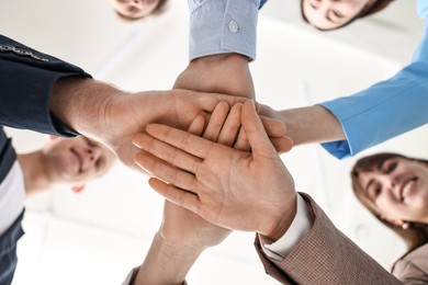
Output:
[[79,133],[104,144],[132,168],[136,149],[131,138],[148,122],[185,129],[201,111],[213,111],[221,98],[229,104],[243,101],[184,90],[131,94],[3,36],[0,68],[0,125],[58,136]]

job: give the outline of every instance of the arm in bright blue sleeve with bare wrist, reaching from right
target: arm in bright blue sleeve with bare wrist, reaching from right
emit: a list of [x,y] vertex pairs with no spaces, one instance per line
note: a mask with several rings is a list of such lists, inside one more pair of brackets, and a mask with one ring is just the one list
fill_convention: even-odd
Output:
[[427,92],[428,62],[417,61],[354,95],[279,112],[262,106],[261,114],[281,119],[294,145],[328,142],[345,158],[427,124]]

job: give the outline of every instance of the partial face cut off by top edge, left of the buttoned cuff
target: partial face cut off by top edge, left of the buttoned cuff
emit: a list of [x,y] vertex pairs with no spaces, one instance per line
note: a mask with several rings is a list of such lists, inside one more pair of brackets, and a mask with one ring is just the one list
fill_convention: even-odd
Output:
[[139,19],[151,14],[159,0],[108,0],[121,15],[129,19]]

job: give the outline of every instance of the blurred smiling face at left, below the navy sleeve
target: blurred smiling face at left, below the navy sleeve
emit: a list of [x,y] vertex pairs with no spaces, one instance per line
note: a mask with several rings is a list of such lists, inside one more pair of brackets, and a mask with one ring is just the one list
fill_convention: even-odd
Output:
[[59,183],[82,183],[104,174],[115,160],[114,153],[82,136],[55,138],[43,149],[48,175]]

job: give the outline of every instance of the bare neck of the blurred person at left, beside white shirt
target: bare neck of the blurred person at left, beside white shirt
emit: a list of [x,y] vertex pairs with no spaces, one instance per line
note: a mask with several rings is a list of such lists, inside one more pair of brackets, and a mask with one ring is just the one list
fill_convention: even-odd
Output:
[[24,175],[26,196],[43,192],[53,186],[53,181],[47,175],[41,150],[34,152],[18,155],[18,161]]

